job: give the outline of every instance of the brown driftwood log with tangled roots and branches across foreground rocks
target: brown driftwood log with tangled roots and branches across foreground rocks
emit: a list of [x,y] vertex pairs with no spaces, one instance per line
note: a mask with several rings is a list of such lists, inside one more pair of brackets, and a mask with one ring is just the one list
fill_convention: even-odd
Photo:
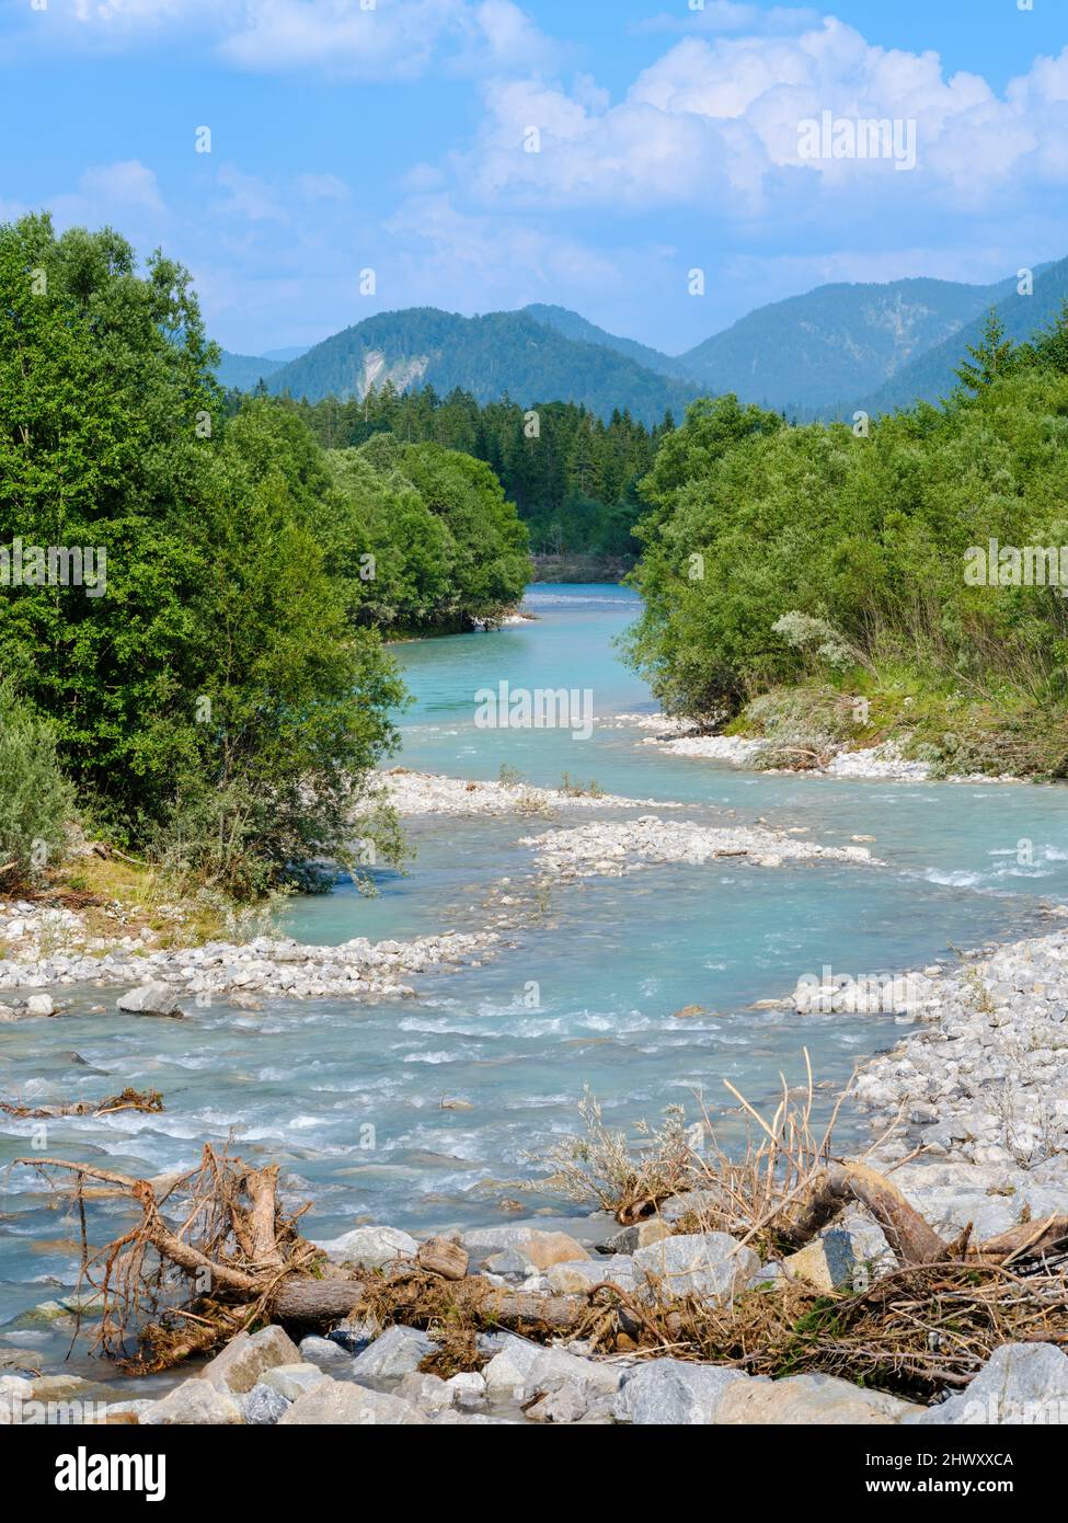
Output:
[[[964,1383],[1002,1342],[1068,1346],[1068,1215],[1024,1221],[978,1244],[969,1228],[945,1243],[885,1174],[864,1159],[832,1159],[826,1138],[814,1142],[807,1112],[792,1119],[785,1101],[772,1124],[757,1121],[769,1141],[756,1161],[702,1159],[698,1180],[693,1168],[684,1176],[672,1133],[670,1167],[628,1174],[620,1209],[648,1215],[667,1182],[699,1183],[698,1228],[724,1228],[780,1253],[858,1205],[882,1228],[894,1272],[867,1290],[832,1295],[788,1279],[743,1292],[728,1307],[692,1296],[658,1304],[611,1284],[582,1295],[509,1290],[463,1273],[465,1255],[442,1244],[422,1261],[353,1272],[300,1235],[308,1208],[282,1208],[276,1165],[250,1168],[210,1147],[198,1168],[158,1180],[58,1157],[18,1162],[66,1176],[82,1221],[82,1281],[102,1295],[98,1343],[136,1372],[206,1354],[268,1320],[321,1331],[346,1317],[430,1330],[439,1339],[433,1368],[448,1374],[477,1366],[477,1333],[509,1328],[542,1342],[584,1337],[603,1352],[670,1349],[750,1374],[824,1371],[928,1397]],[[101,1194],[126,1197],[139,1220],[93,1250],[85,1202]]]

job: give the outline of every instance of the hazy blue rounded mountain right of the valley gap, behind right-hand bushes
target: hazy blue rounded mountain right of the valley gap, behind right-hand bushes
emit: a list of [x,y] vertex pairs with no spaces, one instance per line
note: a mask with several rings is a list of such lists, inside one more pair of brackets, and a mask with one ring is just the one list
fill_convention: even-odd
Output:
[[922,279],[817,286],[757,308],[676,362],[713,391],[814,414],[899,376],[1010,289]]

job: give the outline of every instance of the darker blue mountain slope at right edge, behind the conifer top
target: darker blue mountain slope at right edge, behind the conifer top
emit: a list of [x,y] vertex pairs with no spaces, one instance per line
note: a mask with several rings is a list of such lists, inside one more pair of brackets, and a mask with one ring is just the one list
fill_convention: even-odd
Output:
[[1031,295],[1018,295],[1015,279],[977,289],[986,289],[987,300],[970,323],[905,366],[885,385],[862,396],[856,407],[871,414],[893,413],[894,408],[911,407],[919,398],[938,402],[949,396],[957,385],[954,372],[966,358],[967,346],[980,343],[990,306],[998,308],[1009,337],[1016,343],[1030,338],[1039,327],[1048,327],[1068,300],[1068,259],[1039,265]]

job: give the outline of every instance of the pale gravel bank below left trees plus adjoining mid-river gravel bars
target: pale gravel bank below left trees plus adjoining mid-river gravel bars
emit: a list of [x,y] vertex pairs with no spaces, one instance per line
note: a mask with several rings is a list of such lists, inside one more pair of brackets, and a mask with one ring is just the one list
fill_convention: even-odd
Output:
[[[382,774],[382,780],[389,803],[405,816],[552,819],[562,810],[626,810],[632,816],[651,804],[658,810],[686,807],[602,795],[596,789],[477,783],[402,768]],[[520,844],[530,847],[533,854],[532,874],[526,880],[530,891],[547,879],[619,877],[644,865],[705,864],[722,857],[745,857],[759,867],[798,860],[878,865],[864,847],[821,847],[797,839],[797,833],[760,825],[705,827],[643,815],[523,836]],[[215,996],[238,1004],[338,995],[352,999],[410,996],[414,988],[408,978],[439,967],[478,966],[495,953],[501,937],[521,928],[524,914],[536,908],[536,896],[524,897],[523,880],[504,877],[494,888],[500,912],[489,915],[484,905],[481,911],[471,906],[472,917],[481,918],[477,931],[448,931],[413,941],[372,943],[357,937],[341,946],[308,946],[293,938],[257,935],[247,941],[213,938],[197,946],[165,947],[160,932],[117,900],[105,908],[104,921],[98,906],[91,924],[87,912],[64,905],[0,900],[0,1020],[55,1014],[61,1005],[47,991],[76,984],[126,985],[134,1004],[123,1008],[140,1014],[180,1014],[183,1004],[204,1005]],[[102,923],[108,928],[104,934]],[[169,929],[175,932],[175,926]],[[5,995],[12,998],[2,998]]]

